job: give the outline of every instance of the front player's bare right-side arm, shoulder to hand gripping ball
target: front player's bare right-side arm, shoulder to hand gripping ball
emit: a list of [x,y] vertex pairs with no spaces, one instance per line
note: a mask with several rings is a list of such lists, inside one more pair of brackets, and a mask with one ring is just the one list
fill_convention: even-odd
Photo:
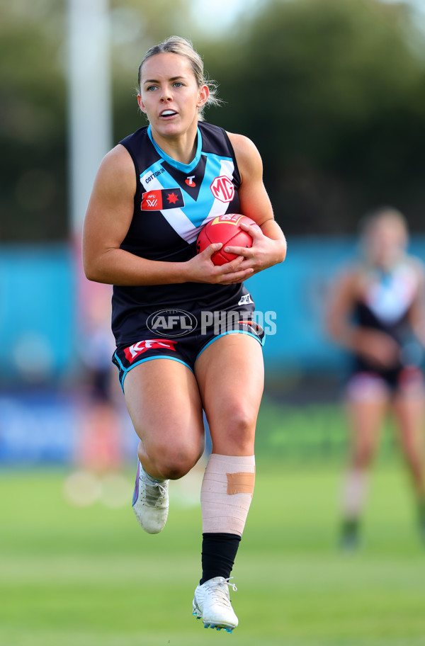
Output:
[[236,155],[241,186],[239,188],[240,211],[251,217],[263,232],[256,232],[249,226],[241,225],[251,237],[254,244],[251,249],[229,247],[231,253],[245,256],[244,266],[251,266],[254,271],[261,271],[285,260],[286,240],[276,220],[273,209],[263,184],[263,163],[259,151],[251,140],[243,135],[227,133]]

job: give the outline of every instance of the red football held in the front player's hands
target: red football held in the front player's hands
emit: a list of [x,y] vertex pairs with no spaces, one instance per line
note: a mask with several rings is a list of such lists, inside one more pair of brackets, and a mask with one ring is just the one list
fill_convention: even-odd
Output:
[[200,254],[201,251],[207,248],[212,242],[222,242],[222,248],[212,254],[211,260],[215,265],[224,265],[225,263],[237,258],[236,254],[227,254],[225,246],[252,246],[252,238],[239,227],[240,222],[246,225],[256,227],[261,231],[259,225],[251,220],[251,217],[240,215],[240,213],[226,213],[226,215],[218,215],[210,222],[207,222],[205,227],[200,230],[198,241],[196,242],[196,253]]

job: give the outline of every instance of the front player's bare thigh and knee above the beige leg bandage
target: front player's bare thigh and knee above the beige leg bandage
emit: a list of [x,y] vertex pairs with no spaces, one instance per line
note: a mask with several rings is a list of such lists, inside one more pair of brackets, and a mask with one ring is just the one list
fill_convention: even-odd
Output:
[[259,341],[249,334],[220,336],[200,353],[195,373],[215,453],[238,447],[250,453],[264,384]]

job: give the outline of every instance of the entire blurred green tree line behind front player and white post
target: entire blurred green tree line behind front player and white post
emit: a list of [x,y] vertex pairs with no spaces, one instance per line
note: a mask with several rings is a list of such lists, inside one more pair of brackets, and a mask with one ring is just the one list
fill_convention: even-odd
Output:
[[[285,232],[353,232],[382,202],[424,228],[424,36],[404,4],[263,0],[208,40],[190,2],[111,0],[115,142],[146,123],[135,96],[142,55],[178,33],[220,81],[226,103],[208,119],[259,147]],[[1,4],[3,241],[67,237],[66,67],[66,0]]]

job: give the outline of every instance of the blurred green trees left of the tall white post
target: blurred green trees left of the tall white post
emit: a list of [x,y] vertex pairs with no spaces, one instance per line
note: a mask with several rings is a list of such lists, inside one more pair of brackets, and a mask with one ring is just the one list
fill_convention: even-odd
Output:
[[1,241],[66,232],[62,23],[53,0],[1,4]]

